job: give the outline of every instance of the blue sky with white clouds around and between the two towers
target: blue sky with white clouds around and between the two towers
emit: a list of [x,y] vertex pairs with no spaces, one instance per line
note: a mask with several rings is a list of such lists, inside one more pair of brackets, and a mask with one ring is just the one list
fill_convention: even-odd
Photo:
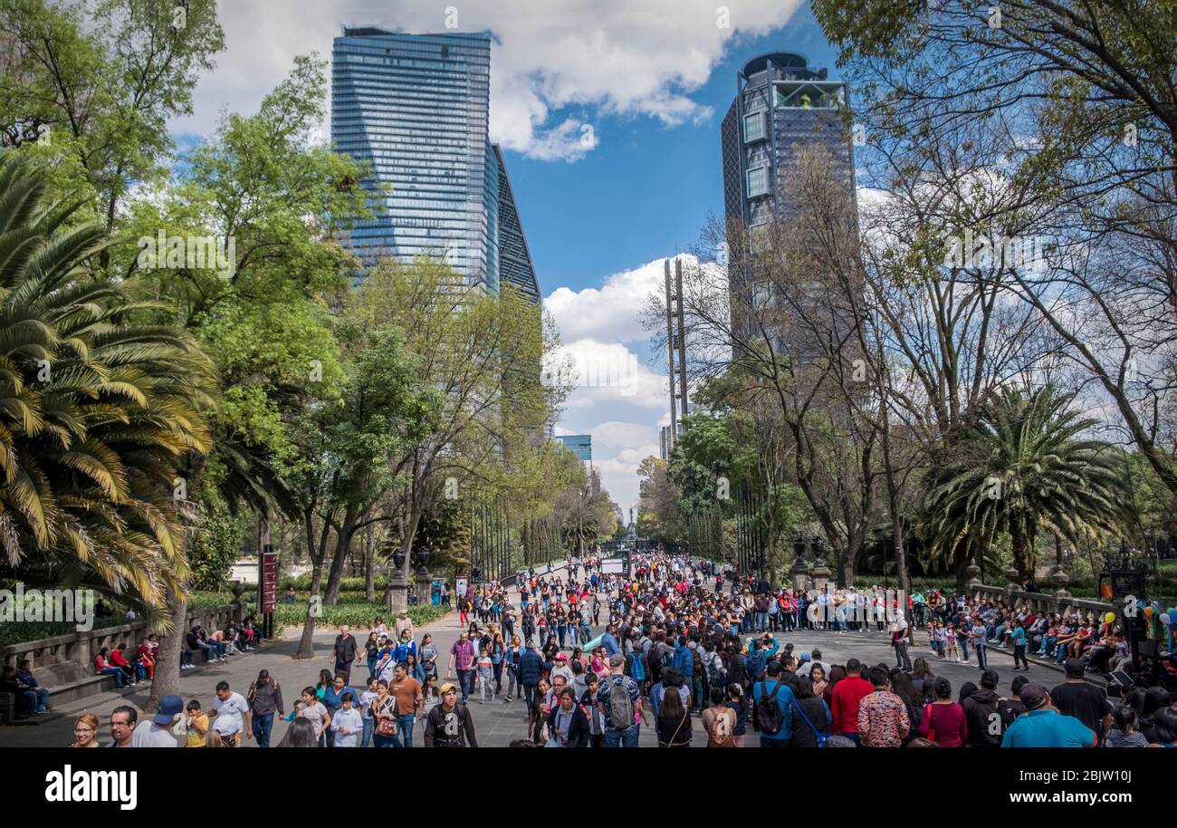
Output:
[[[226,49],[171,125],[181,146],[252,113],[298,54],[330,58],[344,25],[490,31],[491,140],[503,145],[560,358],[578,367],[557,433],[591,433],[601,484],[637,508],[637,469],[670,422],[665,352],[638,312],[663,259],[723,213],[719,122],[736,72],[800,52],[837,78],[802,0],[228,0]],[[321,131],[327,138],[327,124]],[[690,347],[690,340],[687,340]]]

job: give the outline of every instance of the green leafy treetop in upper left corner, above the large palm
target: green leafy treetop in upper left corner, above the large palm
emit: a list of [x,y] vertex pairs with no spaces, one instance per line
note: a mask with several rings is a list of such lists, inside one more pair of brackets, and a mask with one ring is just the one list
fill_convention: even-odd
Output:
[[[107,232],[135,185],[166,179],[167,122],[225,47],[215,0],[0,2],[0,145],[49,160],[52,191],[82,196]],[[79,190],[81,192],[79,193]],[[107,254],[101,256],[104,265]]]

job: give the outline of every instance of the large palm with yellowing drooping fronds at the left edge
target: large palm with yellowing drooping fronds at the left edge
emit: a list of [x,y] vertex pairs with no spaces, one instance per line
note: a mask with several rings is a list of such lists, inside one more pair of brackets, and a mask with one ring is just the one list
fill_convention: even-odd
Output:
[[212,365],[138,285],[89,271],[109,243],[0,157],[0,549],[11,575],[154,612],[182,591],[178,468],[210,436]]

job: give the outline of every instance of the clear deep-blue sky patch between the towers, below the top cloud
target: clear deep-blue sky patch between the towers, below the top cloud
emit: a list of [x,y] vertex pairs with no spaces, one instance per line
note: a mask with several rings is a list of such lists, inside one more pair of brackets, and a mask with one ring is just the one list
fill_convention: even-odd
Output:
[[[507,152],[540,287],[596,286],[603,276],[690,249],[707,212],[723,213],[719,122],[736,93],[736,72],[757,54],[797,51],[830,69],[837,52],[809,6],[782,29],[733,45],[707,84],[690,94],[710,106],[700,124],[666,127],[649,117],[579,118],[593,124],[598,146],[574,163]],[[494,71],[493,62],[491,71]],[[576,107],[573,107],[576,108]]]

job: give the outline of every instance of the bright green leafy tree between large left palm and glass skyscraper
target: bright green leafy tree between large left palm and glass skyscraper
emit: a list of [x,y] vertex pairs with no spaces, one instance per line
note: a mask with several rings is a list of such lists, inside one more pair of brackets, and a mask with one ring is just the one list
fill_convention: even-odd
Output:
[[[232,239],[227,271],[187,260],[148,270],[161,263],[145,263],[138,244],[117,250],[111,261],[114,272],[149,279],[218,364],[215,451],[185,470],[189,497],[214,489],[231,510],[300,522],[285,473],[295,453],[291,429],[306,406],[339,393],[344,371],[327,303],[346,289],[354,259],[335,230],[340,216],[367,214],[359,167],[313,140],[325,91],[325,62],[297,58],[255,114],[226,115],[174,180],[126,211],[128,239],[160,231],[226,246]],[[182,603],[182,592],[175,598]],[[173,607],[181,624],[185,614]],[[179,645],[175,636],[161,642],[160,664],[169,667],[157,670],[153,703],[173,691]]]

